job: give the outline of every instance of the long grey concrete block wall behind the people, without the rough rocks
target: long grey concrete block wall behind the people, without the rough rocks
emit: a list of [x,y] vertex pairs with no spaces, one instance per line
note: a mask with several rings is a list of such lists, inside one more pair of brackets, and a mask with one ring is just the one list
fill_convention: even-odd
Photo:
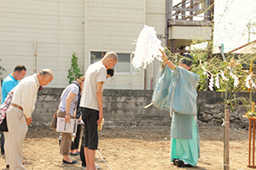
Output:
[[[43,88],[38,92],[36,109],[32,113],[32,122],[49,123],[53,113],[60,102],[61,92],[64,88]],[[132,122],[137,120],[168,120],[168,111],[157,110],[154,105],[144,109],[150,104],[153,90],[120,90],[105,89],[103,92],[103,114],[105,120],[114,122]],[[222,93],[198,92],[198,108],[202,104],[218,104],[224,102]],[[249,98],[249,93],[239,93],[236,97]],[[256,96],[253,96],[256,101]]]

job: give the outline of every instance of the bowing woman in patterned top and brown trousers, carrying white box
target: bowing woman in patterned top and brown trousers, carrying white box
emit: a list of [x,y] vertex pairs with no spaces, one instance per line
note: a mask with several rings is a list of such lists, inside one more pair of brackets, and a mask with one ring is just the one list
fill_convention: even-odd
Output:
[[[78,80],[73,81],[70,85],[68,85],[61,94],[61,103],[57,111],[57,117],[65,118],[65,122],[70,122],[70,119],[74,117],[74,111],[79,102],[80,87],[83,87],[83,84],[84,77],[79,77]],[[78,162],[73,161],[68,156],[71,141],[72,133],[62,133],[60,153],[63,156],[63,163],[74,164]]]

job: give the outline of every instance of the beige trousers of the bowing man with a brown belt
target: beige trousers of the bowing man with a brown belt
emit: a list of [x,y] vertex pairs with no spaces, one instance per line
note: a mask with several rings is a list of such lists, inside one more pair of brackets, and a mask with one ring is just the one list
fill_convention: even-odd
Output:
[[9,128],[9,169],[24,170],[22,165],[23,150],[22,144],[26,137],[27,126],[23,111],[13,106],[7,111],[7,125]]

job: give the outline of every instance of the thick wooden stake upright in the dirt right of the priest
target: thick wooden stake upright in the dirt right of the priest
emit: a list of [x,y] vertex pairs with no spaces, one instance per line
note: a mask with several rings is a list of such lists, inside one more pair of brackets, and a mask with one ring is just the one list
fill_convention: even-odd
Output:
[[224,169],[230,170],[230,110],[225,110],[225,162]]

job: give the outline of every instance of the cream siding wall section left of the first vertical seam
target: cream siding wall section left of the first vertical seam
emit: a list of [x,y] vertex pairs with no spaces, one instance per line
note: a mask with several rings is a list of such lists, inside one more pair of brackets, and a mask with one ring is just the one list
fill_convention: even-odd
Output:
[[0,59],[7,70],[26,65],[33,74],[33,43],[37,44],[37,72],[51,69],[55,78],[49,87],[64,88],[73,52],[83,67],[83,0],[0,0]]

